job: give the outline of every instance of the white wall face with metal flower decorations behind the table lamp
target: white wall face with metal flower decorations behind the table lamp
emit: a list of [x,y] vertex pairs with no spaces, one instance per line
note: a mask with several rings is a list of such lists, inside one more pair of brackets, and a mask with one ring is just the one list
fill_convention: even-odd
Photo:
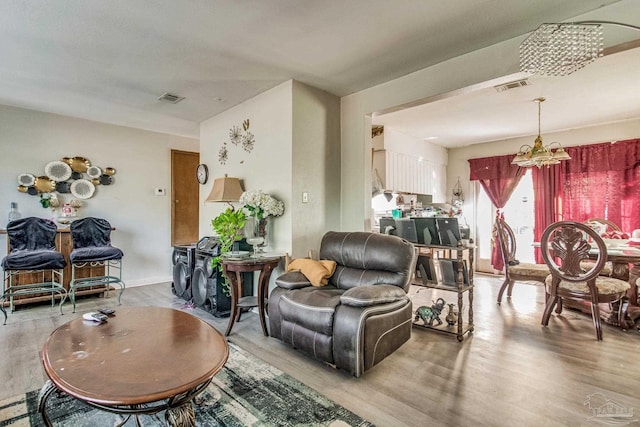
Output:
[[[213,180],[227,174],[240,178],[244,190],[262,190],[284,202],[284,215],[273,218],[270,249],[291,250],[291,141],[292,82],[283,83],[200,124],[200,161],[209,166],[209,182],[200,187],[200,235],[211,236],[211,220],[228,205],[204,203]],[[255,136],[253,151],[229,143],[229,129],[250,121],[249,131]],[[218,161],[218,151],[227,141],[229,159]],[[234,203],[236,208],[242,206]]]

